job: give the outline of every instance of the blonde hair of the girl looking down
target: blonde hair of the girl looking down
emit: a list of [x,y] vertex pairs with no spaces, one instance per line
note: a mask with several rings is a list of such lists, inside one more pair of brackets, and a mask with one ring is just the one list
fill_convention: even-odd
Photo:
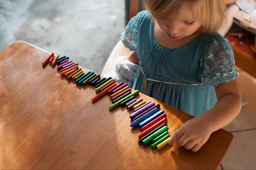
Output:
[[153,20],[168,19],[187,10],[202,24],[202,31],[216,32],[227,19],[224,0],[143,0],[145,9]]

